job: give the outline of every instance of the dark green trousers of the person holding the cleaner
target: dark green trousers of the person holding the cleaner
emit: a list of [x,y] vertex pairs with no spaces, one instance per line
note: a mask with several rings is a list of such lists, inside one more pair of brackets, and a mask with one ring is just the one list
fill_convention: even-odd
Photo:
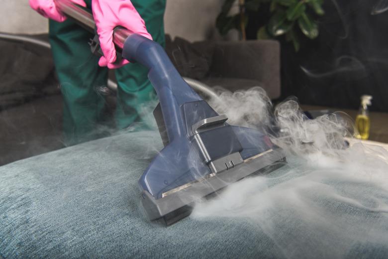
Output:
[[[91,8],[91,0],[86,0]],[[132,0],[144,19],[153,39],[165,44],[163,16],[166,0]],[[68,19],[50,20],[49,36],[56,72],[64,98],[63,131],[66,145],[106,135],[103,125],[109,121],[104,113],[105,98],[97,87],[106,86],[108,69],[98,67],[98,57],[90,51],[91,33]],[[141,121],[140,109],[155,100],[154,89],[147,78],[148,70],[131,63],[115,70],[118,83],[115,125],[124,129]]]

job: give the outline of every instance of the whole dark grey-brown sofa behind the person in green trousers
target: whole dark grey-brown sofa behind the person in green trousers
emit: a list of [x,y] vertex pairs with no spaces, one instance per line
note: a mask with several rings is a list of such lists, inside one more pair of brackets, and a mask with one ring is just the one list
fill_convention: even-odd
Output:
[[[271,98],[280,95],[276,41],[190,43],[167,36],[166,51],[183,76],[230,91],[262,86]],[[0,54],[0,165],[64,147],[51,52],[0,40]],[[114,102],[107,104],[107,113],[113,109]]]

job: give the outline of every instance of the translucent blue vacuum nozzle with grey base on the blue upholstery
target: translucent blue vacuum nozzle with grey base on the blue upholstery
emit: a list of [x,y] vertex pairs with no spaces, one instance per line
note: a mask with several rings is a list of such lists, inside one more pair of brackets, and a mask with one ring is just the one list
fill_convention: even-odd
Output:
[[164,49],[132,34],[123,58],[149,68],[159,97],[154,111],[165,147],[139,179],[150,220],[170,225],[195,201],[251,174],[283,165],[282,150],[255,129],[230,126],[182,79]]

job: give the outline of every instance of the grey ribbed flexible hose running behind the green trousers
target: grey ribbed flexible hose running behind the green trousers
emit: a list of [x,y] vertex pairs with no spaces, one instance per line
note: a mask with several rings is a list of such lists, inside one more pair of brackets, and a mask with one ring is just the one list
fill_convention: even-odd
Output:
[[[16,34],[0,32],[0,39],[28,42],[28,43],[32,43],[32,44],[35,44],[35,45],[38,45],[41,47],[51,49],[50,43],[48,43],[47,41],[44,41],[41,39],[36,39],[34,37],[31,37],[31,36],[23,36],[23,35],[16,35]],[[204,94],[208,97],[211,97],[211,98],[218,98],[218,95],[208,85],[206,85],[198,80],[188,78],[188,77],[184,77],[183,79],[196,92],[202,93],[202,94]],[[108,79],[107,88],[116,92],[117,91],[117,84],[115,82],[113,82],[112,80]],[[103,92],[104,92],[104,93],[102,93],[103,95],[108,94],[106,92],[106,90],[104,90]]]

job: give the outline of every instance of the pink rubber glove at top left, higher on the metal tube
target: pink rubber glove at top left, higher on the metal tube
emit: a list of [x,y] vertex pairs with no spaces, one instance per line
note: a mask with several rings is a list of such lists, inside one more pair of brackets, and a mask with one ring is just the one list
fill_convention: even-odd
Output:
[[[84,0],[71,1],[86,7]],[[54,0],[29,0],[29,2],[32,9],[36,10],[46,18],[50,18],[59,22],[63,22],[67,19],[67,17],[57,9]]]

